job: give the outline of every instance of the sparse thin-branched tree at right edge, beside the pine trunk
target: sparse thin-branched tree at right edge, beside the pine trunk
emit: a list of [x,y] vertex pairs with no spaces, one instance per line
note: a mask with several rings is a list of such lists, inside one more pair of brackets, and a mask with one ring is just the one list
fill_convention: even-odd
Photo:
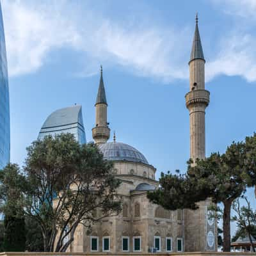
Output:
[[243,196],[243,198],[246,205],[240,206],[238,199],[232,204],[232,208],[236,212],[236,215],[232,217],[232,220],[236,221],[237,228],[239,228],[243,234],[246,234],[249,237],[252,250],[255,252],[252,236],[255,233],[256,211],[253,211],[248,198],[246,198],[246,196]]

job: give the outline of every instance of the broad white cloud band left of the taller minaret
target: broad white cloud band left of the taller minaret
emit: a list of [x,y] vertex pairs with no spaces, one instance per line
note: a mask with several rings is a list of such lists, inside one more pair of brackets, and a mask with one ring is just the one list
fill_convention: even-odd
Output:
[[3,1],[10,76],[35,72],[49,52],[70,47],[90,58],[84,76],[93,71],[88,63],[105,61],[129,67],[140,76],[166,81],[187,77],[180,58],[188,41],[186,28],[124,26],[91,10],[81,13],[77,5],[72,6],[72,13],[68,8],[67,1]]

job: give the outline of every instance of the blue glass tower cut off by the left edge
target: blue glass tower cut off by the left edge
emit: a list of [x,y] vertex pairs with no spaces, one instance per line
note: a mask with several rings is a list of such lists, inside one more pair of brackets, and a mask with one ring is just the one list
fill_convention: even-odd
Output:
[[0,169],[10,162],[10,103],[4,24],[0,3]]

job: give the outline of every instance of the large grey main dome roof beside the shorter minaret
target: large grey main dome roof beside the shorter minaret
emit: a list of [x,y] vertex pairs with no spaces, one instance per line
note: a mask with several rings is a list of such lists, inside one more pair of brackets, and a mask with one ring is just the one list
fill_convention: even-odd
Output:
[[147,159],[136,148],[122,142],[108,142],[99,145],[105,159],[109,161],[131,161],[148,164]]

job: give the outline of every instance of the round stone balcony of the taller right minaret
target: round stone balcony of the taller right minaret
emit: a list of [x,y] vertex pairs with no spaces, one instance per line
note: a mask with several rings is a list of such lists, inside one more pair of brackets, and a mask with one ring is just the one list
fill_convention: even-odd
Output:
[[193,90],[185,95],[185,99],[187,108],[195,103],[202,103],[207,107],[210,102],[210,92],[207,90]]

